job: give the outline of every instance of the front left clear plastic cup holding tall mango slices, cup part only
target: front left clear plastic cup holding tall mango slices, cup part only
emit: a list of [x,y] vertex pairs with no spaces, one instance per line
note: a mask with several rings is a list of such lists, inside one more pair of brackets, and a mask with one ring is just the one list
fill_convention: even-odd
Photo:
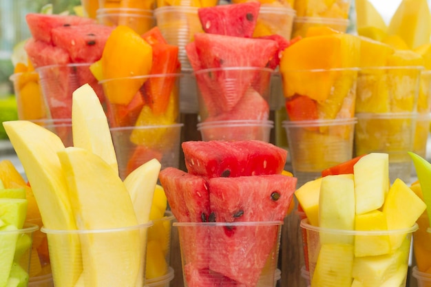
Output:
[[66,286],[79,279],[84,286],[144,287],[146,237],[151,225],[96,230],[42,227],[48,237],[54,285]]

